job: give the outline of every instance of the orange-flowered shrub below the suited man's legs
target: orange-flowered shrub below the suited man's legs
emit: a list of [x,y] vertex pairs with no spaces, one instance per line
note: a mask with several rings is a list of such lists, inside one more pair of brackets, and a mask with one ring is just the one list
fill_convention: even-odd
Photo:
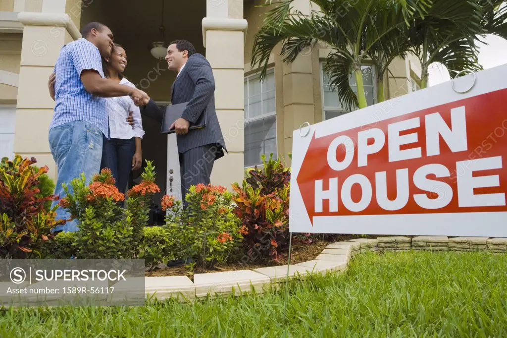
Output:
[[241,243],[240,221],[234,215],[232,194],[225,187],[198,184],[187,194],[188,207],[173,196],[162,198],[167,211],[165,229],[175,258],[193,258],[190,266],[208,268],[227,261]]

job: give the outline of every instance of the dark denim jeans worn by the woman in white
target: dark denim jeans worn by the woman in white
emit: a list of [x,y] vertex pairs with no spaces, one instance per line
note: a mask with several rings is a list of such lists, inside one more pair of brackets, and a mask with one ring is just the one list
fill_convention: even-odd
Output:
[[104,138],[102,146],[102,163],[100,169],[110,168],[115,178],[115,186],[122,193],[127,190],[128,178],[132,171],[132,157],[135,152],[134,138],[110,139]]

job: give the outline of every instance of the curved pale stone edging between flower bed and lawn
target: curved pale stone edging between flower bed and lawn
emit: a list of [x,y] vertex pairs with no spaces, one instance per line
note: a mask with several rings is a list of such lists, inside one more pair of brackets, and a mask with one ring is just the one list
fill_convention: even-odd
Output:
[[[291,264],[289,277],[303,277],[309,274],[344,272],[349,261],[356,255],[378,251],[479,251],[507,253],[507,238],[416,236],[383,236],[377,239],[353,239],[328,245],[315,259]],[[146,296],[151,299],[177,299],[189,302],[224,295],[240,295],[255,291],[264,293],[277,288],[287,276],[287,265],[262,267],[251,270],[227,271],[194,275],[194,282],[186,276],[144,277]],[[140,277],[142,278],[142,277]],[[34,283],[30,287],[45,286],[46,282]],[[12,283],[0,283],[0,294]],[[128,293],[133,289],[130,281],[114,284],[115,290]],[[23,285],[16,285],[23,287]],[[58,295],[54,295],[57,300]]]

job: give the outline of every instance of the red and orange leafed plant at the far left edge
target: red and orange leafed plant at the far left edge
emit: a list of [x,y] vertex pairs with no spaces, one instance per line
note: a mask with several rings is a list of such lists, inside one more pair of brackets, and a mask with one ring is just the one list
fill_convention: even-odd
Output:
[[0,258],[36,258],[45,241],[52,238],[50,229],[64,221],[56,221],[56,208],[45,209],[48,201],[58,196],[42,197],[39,178],[48,172],[31,166],[35,158],[7,157],[0,162]]

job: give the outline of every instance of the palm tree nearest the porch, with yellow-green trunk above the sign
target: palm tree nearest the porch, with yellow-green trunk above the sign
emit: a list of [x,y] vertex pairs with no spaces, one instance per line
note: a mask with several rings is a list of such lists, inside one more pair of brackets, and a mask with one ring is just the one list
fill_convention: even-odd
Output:
[[[300,51],[313,48],[317,42],[327,44],[333,51],[324,72],[348,110],[367,106],[361,64],[377,56],[374,62],[384,74],[393,54],[400,55],[399,48],[387,46],[391,42],[388,37],[396,35],[411,15],[421,16],[426,10],[425,2],[417,0],[354,0],[353,4],[350,0],[310,0],[318,10],[304,15],[294,11],[292,2],[282,1],[268,12],[255,36],[252,67],[261,65],[263,80],[269,55],[279,43],[285,62],[293,62]],[[351,74],[356,79],[357,95],[350,88]]]

